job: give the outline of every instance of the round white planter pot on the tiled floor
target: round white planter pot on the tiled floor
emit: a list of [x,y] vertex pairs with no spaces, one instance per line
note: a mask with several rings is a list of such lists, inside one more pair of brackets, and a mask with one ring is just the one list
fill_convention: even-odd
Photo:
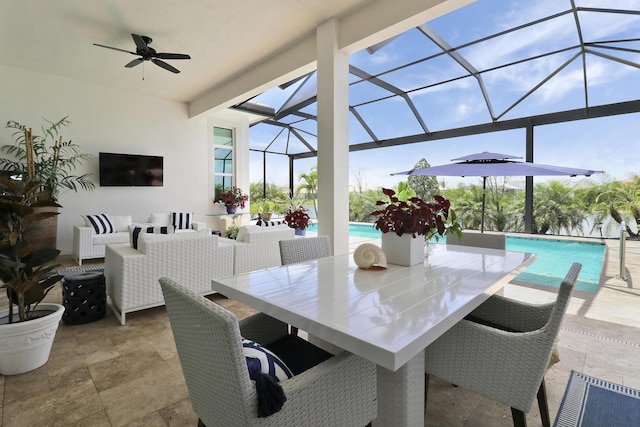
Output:
[[[22,374],[47,363],[64,307],[42,303],[37,311],[43,310],[51,314],[28,322],[0,325],[0,374]],[[8,314],[9,310],[2,310],[0,318]]]

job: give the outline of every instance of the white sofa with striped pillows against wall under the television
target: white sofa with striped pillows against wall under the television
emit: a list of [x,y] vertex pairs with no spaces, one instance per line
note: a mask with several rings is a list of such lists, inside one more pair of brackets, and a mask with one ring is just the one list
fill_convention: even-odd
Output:
[[[118,243],[129,243],[129,227],[133,225],[130,215],[109,215],[111,222],[115,228],[113,233],[97,234],[93,226],[89,223],[86,216],[84,225],[76,225],[73,227],[73,258],[82,265],[85,259],[104,258],[106,245]],[[167,226],[171,224],[171,215],[169,213],[152,214],[144,225]],[[207,228],[204,222],[192,221],[188,230],[181,231],[201,231]]]

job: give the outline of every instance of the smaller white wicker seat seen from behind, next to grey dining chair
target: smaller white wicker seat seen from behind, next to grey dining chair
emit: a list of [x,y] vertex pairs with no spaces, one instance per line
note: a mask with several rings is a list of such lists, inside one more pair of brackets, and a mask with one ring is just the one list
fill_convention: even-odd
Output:
[[233,274],[276,267],[280,260],[280,240],[293,239],[295,230],[286,225],[262,227],[245,225],[233,242]]

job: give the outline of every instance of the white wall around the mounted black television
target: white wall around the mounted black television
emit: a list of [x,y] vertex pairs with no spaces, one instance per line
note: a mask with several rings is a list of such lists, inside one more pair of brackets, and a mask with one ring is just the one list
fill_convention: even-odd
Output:
[[[81,214],[131,214],[134,221],[145,222],[153,212],[184,210],[195,212],[196,220],[206,220],[212,203],[207,118],[189,119],[186,104],[2,65],[0,94],[0,145],[12,141],[11,130],[5,128],[9,120],[41,134],[42,117],[58,120],[68,115],[72,124],[63,130],[64,139],[94,156],[84,169],[93,174],[96,189],[60,196],[58,249],[63,254],[72,252],[73,225],[82,224]],[[164,186],[99,187],[101,151],[163,156]]]

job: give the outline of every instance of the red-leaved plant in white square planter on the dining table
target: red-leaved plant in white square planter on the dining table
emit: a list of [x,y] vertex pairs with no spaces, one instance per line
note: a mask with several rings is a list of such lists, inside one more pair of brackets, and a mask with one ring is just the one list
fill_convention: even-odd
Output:
[[427,203],[404,182],[398,185],[398,194],[388,188],[382,192],[389,200],[377,201],[382,208],[371,216],[375,217],[375,228],[382,231],[382,250],[389,263],[419,264],[424,261],[425,242],[432,237],[437,240],[452,232],[462,236],[456,214],[444,197],[434,196],[434,202]]

